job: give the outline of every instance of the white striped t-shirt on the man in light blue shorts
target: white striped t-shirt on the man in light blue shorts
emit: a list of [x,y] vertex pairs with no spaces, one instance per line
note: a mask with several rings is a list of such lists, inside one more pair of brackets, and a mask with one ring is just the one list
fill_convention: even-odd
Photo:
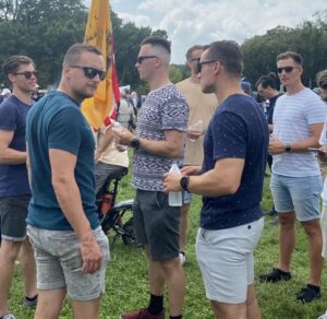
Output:
[[[284,94],[275,105],[274,137],[284,143],[308,139],[312,135],[310,125],[324,122],[326,115],[326,105],[310,88],[305,87],[292,95]],[[272,158],[274,174],[289,177],[320,174],[313,152],[282,153]]]

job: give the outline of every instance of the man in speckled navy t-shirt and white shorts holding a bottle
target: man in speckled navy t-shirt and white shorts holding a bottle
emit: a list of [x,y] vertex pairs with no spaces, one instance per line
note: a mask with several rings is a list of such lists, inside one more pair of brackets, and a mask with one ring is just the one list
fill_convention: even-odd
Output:
[[264,226],[259,203],[269,133],[257,103],[242,92],[242,67],[234,42],[213,43],[203,52],[202,90],[220,102],[205,135],[203,166],[184,167],[183,177],[168,174],[164,184],[168,192],[204,197],[196,256],[215,317],[227,319],[259,317],[253,250]]

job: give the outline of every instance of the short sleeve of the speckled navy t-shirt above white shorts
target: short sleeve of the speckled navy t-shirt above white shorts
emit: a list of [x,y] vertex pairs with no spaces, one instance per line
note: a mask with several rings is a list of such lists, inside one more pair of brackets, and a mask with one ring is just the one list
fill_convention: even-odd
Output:
[[213,160],[245,158],[247,130],[242,118],[223,111],[213,120]]

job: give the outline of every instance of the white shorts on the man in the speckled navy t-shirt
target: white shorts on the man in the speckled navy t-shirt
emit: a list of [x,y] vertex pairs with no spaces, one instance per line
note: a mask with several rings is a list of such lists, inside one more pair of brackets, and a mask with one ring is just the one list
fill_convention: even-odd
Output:
[[242,304],[254,282],[253,250],[264,228],[264,218],[242,226],[208,231],[199,228],[196,259],[210,300]]

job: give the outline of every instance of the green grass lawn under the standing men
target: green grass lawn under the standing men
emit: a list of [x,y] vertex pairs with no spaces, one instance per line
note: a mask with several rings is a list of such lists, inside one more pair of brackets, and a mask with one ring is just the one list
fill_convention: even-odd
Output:
[[[263,210],[271,208],[269,178],[265,179]],[[121,184],[119,199],[132,198],[130,176]],[[184,317],[186,319],[211,319],[210,304],[205,297],[203,281],[197,267],[194,243],[198,226],[201,199],[195,197],[190,213],[189,243],[186,249],[186,296]],[[266,217],[262,239],[255,250],[255,273],[269,271],[278,262],[278,226],[268,225],[271,217]],[[113,236],[109,234],[112,244]],[[145,258],[142,249],[124,246],[118,240],[110,246],[111,262],[106,277],[106,295],[101,300],[101,318],[117,319],[124,310],[138,309],[148,303],[148,283]],[[327,308],[326,274],[323,276],[323,297],[310,305],[295,302],[296,293],[305,285],[308,277],[307,241],[303,229],[298,226],[298,245],[292,259],[292,280],[278,284],[262,284],[255,282],[258,302],[264,319],[311,319],[324,314]],[[33,310],[22,306],[23,282],[20,271],[15,271],[10,296],[11,312],[17,319],[33,318]],[[165,302],[167,305],[167,300]],[[65,303],[60,318],[72,318],[70,307]],[[90,318],[92,319],[92,318]],[[235,318],[237,319],[237,318]]]

